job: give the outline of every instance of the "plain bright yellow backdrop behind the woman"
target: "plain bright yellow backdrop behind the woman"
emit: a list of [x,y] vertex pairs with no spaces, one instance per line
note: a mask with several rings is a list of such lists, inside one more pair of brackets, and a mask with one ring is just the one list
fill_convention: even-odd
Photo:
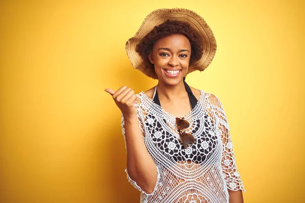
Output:
[[0,202],[138,202],[105,88],[157,84],[125,52],[145,16],[187,8],[216,56],[189,85],[226,111],[245,202],[304,202],[303,1],[1,1]]

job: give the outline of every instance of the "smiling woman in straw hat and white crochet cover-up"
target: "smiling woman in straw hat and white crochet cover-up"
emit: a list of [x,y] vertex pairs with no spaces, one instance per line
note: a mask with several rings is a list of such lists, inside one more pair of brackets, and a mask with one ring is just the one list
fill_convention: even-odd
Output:
[[126,50],[136,69],[158,79],[139,94],[105,89],[122,113],[126,173],[140,202],[243,202],[221,101],[185,81],[215,55],[205,21],[187,9],[153,11]]

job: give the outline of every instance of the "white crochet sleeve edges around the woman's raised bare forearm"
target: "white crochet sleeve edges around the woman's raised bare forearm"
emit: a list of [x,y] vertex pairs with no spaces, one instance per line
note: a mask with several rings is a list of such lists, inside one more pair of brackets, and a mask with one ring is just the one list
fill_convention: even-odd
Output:
[[[138,122],[139,122],[139,128],[141,129],[141,132],[142,132],[142,137],[143,137],[143,142],[145,141],[145,137],[144,137],[144,129],[143,129],[143,124],[142,124],[142,121],[140,119],[140,115],[138,113]],[[124,123],[124,117],[123,117],[123,114],[121,113],[121,127],[122,127],[122,134],[124,136],[124,141],[125,141],[125,148],[126,148],[126,138],[125,138],[125,123]],[[127,148],[126,148],[127,149]],[[126,151],[127,153],[127,151]],[[156,182],[156,185],[155,185],[155,188],[153,190],[153,192],[151,193],[146,193],[145,191],[143,191],[141,189],[140,186],[137,185],[137,183],[135,181],[133,181],[130,176],[128,175],[128,172],[127,172],[127,168],[125,169],[125,172],[126,172],[126,175],[127,175],[127,179],[128,181],[136,188],[138,189],[140,192],[142,192],[143,194],[145,195],[153,195],[155,193],[155,191],[157,190],[157,186],[159,184],[159,180],[160,180],[160,172],[159,172],[159,168],[158,166],[156,165],[156,168],[157,168],[157,182]]]

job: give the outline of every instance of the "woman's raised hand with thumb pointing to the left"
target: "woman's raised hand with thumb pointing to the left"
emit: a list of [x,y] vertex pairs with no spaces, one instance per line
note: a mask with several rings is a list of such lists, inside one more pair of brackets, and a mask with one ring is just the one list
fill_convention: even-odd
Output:
[[117,91],[110,88],[105,89],[105,91],[112,95],[116,106],[121,110],[124,118],[137,115],[137,108],[134,106],[137,96],[134,90],[124,85]]

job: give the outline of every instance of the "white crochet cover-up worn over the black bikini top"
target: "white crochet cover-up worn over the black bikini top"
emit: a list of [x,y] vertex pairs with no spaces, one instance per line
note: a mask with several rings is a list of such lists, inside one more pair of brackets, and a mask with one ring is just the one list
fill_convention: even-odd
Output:
[[[228,189],[246,192],[222,103],[216,95],[200,92],[195,108],[184,116],[191,124],[186,131],[195,137],[195,143],[187,149],[179,141],[175,117],[143,91],[137,94],[139,127],[158,174],[154,191],[148,194],[125,170],[128,181],[141,191],[141,203],[228,203]],[[125,139],[123,114],[121,127]]]

